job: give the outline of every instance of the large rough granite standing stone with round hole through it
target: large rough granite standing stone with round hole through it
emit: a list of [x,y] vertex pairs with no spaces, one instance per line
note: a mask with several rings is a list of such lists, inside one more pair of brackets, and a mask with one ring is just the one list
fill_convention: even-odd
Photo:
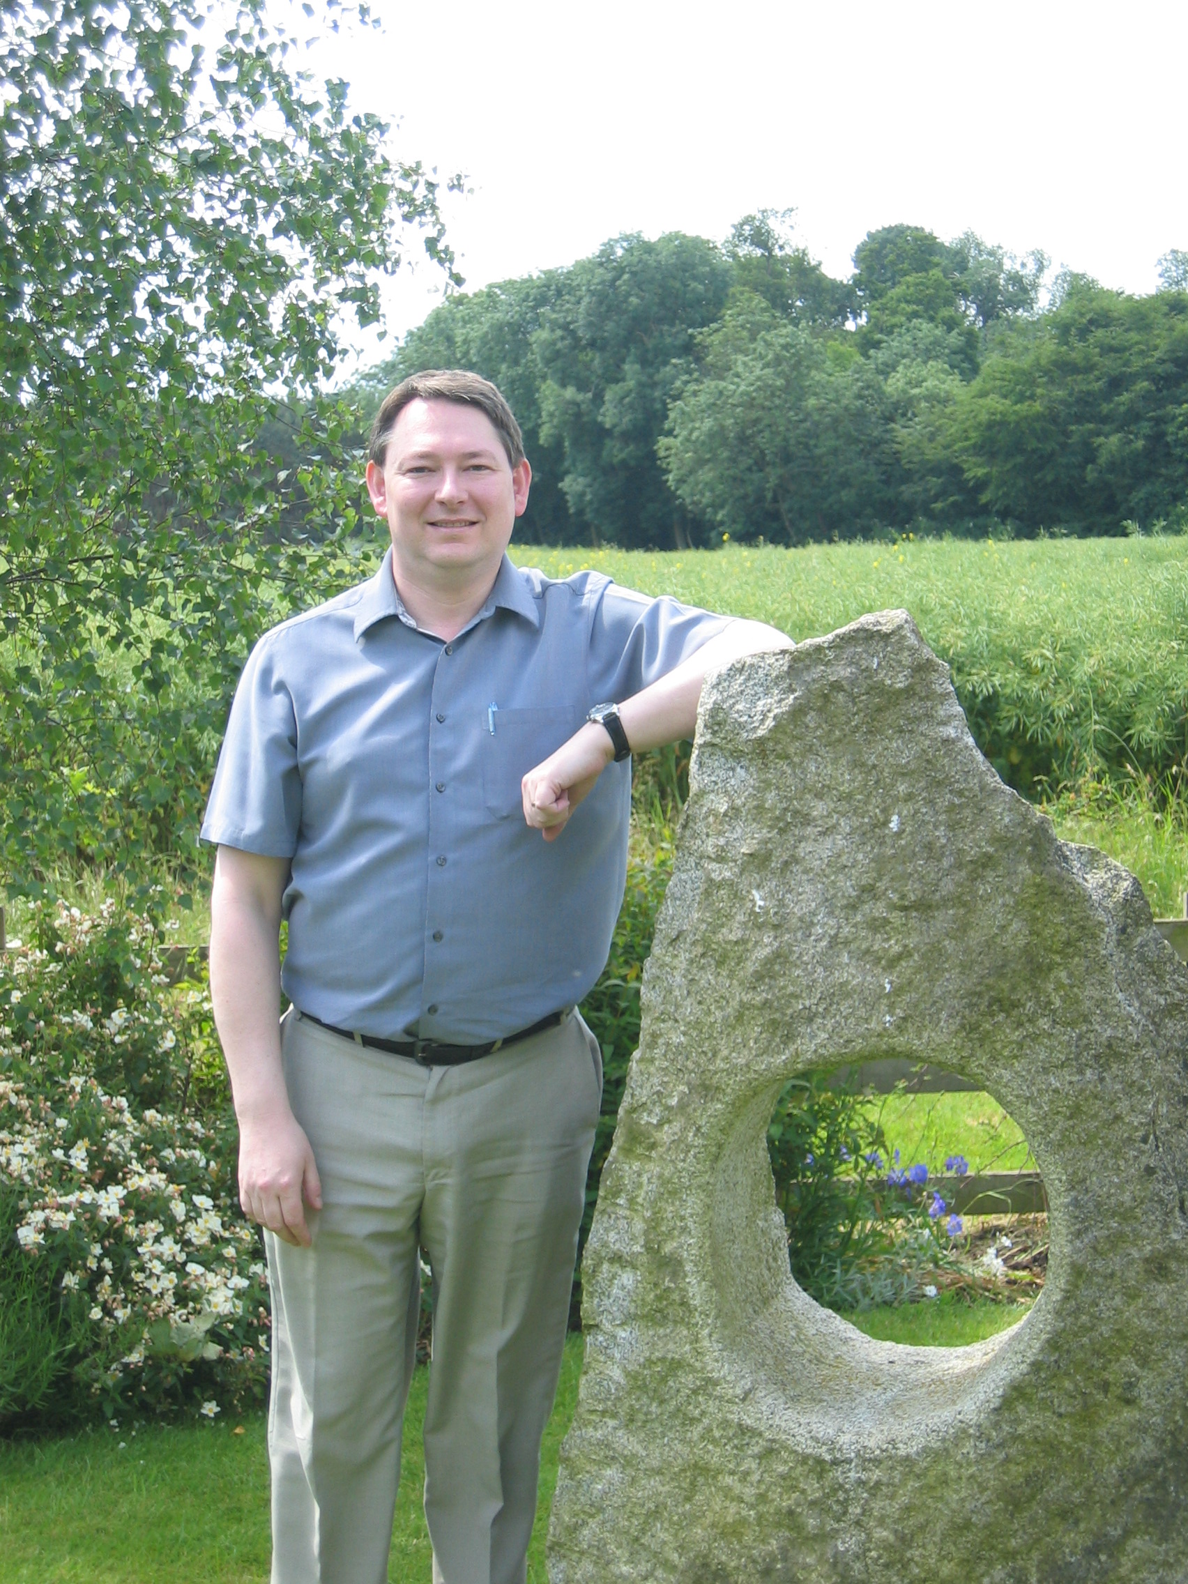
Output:
[[[1047,1286],[971,1348],[792,1281],[787,1077],[976,1079],[1050,1201]],[[982,759],[903,611],[706,684],[584,1259],[553,1584],[1188,1581],[1188,969],[1131,874]]]

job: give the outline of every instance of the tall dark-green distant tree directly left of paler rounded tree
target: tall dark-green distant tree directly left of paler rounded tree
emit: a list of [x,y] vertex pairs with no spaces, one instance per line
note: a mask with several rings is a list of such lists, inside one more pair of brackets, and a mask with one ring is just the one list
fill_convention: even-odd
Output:
[[621,236],[567,269],[532,348],[540,434],[559,444],[569,508],[594,543],[673,545],[687,524],[656,459],[694,336],[713,325],[730,263],[699,236]]

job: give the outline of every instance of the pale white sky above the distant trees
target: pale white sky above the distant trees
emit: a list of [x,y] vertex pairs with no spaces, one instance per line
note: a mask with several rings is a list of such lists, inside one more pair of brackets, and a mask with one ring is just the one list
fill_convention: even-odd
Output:
[[[759,208],[795,209],[843,277],[895,222],[1139,293],[1188,249],[1185,0],[372,5],[379,32],[310,65],[396,124],[402,158],[466,173],[445,214],[467,288],[624,231],[722,239]],[[390,333],[440,295],[431,266],[401,271]]]

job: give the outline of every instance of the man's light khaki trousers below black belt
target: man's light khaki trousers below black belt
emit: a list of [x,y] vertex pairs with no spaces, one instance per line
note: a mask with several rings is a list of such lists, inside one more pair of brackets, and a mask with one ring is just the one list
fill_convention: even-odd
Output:
[[425,1516],[437,1584],[524,1584],[602,1096],[575,1012],[421,1068],[290,1011],[285,1082],[314,1147],[312,1247],[271,1234],[272,1584],[385,1584],[401,1427],[432,1270]]

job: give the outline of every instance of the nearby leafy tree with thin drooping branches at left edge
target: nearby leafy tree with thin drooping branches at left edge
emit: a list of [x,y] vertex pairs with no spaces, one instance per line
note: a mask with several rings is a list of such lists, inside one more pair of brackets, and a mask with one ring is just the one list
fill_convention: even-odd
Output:
[[[0,878],[192,847],[252,637],[299,589],[271,524],[350,527],[320,394],[437,184],[242,0],[13,0],[0,19]],[[299,478],[261,477],[291,394]]]

